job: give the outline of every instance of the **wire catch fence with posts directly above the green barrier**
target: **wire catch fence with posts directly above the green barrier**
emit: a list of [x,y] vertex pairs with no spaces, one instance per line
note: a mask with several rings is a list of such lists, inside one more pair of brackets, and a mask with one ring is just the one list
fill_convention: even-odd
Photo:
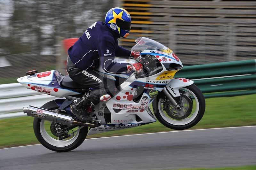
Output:
[[148,37],[168,46],[184,65],[256,58],[256,22],[189,27],[167,25],[157,28],[147,25],[143,30],[133,31],[135,33],[127,39],[120,39],[120,45],[131,48],[136,38]]

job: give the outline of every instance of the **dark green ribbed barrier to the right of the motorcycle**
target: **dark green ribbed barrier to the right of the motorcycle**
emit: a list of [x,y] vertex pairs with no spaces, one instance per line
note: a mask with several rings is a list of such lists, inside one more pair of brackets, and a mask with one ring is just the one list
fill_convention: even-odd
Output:
[[194,81],[206,98],[254,94],[256,93],[256,60],[185,66],[176,73],[175,77],[201,79]]

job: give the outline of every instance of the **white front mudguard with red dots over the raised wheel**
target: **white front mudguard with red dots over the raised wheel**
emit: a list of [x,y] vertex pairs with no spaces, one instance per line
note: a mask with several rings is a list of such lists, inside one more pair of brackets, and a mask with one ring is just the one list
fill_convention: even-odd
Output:
[[179,89],[193,84],[194,81],[184,78],[173,78],[167,85],[166,89],[172,94],[173,97],[180,97]]

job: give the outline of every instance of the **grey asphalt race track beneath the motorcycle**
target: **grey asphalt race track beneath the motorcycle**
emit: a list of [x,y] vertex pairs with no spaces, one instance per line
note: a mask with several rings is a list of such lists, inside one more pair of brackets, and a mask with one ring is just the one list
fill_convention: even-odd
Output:
[[1,170],[131,170],[255,164],[256,126],[89,139],[65,153],[42,145],[0,150]]

